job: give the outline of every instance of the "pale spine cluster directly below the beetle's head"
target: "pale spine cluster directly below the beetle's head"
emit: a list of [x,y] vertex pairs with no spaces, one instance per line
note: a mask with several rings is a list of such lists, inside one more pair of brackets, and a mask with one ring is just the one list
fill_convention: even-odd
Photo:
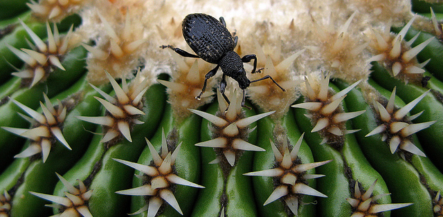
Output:
[[250,129],[249,124],[260,120],[263,117],[271,115],[275,111],[245,117],[242,110],[242,93],[237,90],[230,91],[228,99],[230,104],[224,100],[221,93],[217,91],[219,102],[219,111],[213,115],[204,111],[189,109],[204,119],[211,122],[213,139],[195,144],[199,147],[212,147],[217,153],[217,159],[212,163],[221,162],[222,164],[234,167],[237,159],[243,151],[265,151],[264,149],[247,142]]

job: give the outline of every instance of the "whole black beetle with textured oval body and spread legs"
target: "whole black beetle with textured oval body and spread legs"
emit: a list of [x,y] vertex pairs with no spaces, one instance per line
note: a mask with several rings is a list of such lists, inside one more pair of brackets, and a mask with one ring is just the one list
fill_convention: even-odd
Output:
[[[201,90],[201,93],[197,95],[197,100],[200,100],[201,94],[204,93],[208,79],[213,77],[219,68],[221,68],[221,71],[223,72],[220,82],[220,93],[228,103],[230,103],[228,97],[224,94],[226,88],[226,75],[235,79],[235,81],[238,82],[239,87],[243,90],[242,106],[244,106],[245,89],[253,82],[269,78],[280,87],[282,91],[285,91],[284,88],[275,82],[275,80],[269,75],[253,81],[250,81],[246,77],[243,63],[254,60],[251,73],[256,73],[257,57],[252,54],[240,58],[240,56],[235,53],[234,48],[237,46],[238,37],[230,35],[223,17],[220,17],[220,21],[218,21],[210,15],[200,13],[190,14],[183,19],[181,30],[186,43],[188,43],[190,48],[194,50],[197,55],[188,53],[180,48],[174,48],[174,46],[171,45],[163,45],[161,48],[171,48],[183,57],[201,58],[211,64],[217,64],[215,68],[205,75],[203,89]],[[258,71],[260,72],[260,70]]]

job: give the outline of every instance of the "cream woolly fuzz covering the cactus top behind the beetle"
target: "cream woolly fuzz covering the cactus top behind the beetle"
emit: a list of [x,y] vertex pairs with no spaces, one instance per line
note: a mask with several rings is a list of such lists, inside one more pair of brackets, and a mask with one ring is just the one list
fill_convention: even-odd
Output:
[[[275,77],[279,79],[279,83],[288,81],[286,76],[289,76],[289,81],[291,81],[289,84],[293,85],[293,81],[296,81],[300,75],[319,69],[330,71],[332,77],[340,77],[352,83],[368,77],[370,73],[367,59],[373,55],[365,47],[367,36],[361,32],[368,32],[370,29],[385,30],[392,25],[403,25],[413,17],[410,8],[410,2],[400,0],[390,0],[388,3],[386,1],[328,1],[326,4],[324,1],[257,3],[246,0],[240,2],[199,1],[198,3],[187,1],[185,3],[181,1],[99,0],[91,2],[81,10],[83,22],[76,33],[85,41],[88,39],[96,41],[94,48],[98,49],[93,53],[96,53],[97,57],[109,58],[107,64],[99,64],[100,61],[97,58],[94,58],[96,62],[88,62],[91,71],[89,78],[94,84],[105,82],[102,68],[107,68],[113,77],[126,77],[129,71],[136,70],[134,67],[137,64],[134,62],[138,62],[138,59],[147,60],[148,64],[145,67],[149,68],[149,73],[172,74],[177,64],[172,62],[168,51],[159,46],[170,44],[192,52],[181,35],[181,21],[186,15],[197,11],[205,12],[217,19],[223,16],[228,30],[236,32],[239,37],[241,48],[236,50],[240,55],[256,53],[259,67],[265,65],[267,57],[259,55],[260,52],[256,49],[257,41],[260,46],[264,47],[264,53],[270,55],[271,62],[275,66],[282,59],[307,48],[308,50],[289,64],[289,67],[285,67],[281,78]],[[113,34],[109,34],[105,21],[116,32],[118,36],[116,38],[125,41],[125,38],[118,34],[125,32],[123,26],[127,19],[134,24],[130,33],[127,34],[133,35],[129,39],[133,41],[143,39],[145,43],[138,46],[133,53],[123,52],[125,55],[123,59],[111,57],[116,53],[109,46]],[[127,41],[124,44],[117,43],[117,45],[121,50],[125,50],[123,49],[125,44],[131,43]],[[126,56],[130,57],[126,58]],[[111,70],[113,67],[114,70]],[[264,70],[262,75],[266,73],[271,72]],[[264,83],[271,84],[270,81]],[[275,89],[277,95],[282,94],[279,92],[280,90]],[[271,103],[266,104],[262,109],[275,110],[279,114],[280,111],[276,108],[286,104],[287,100],[293,100],[291,98],[293,95],[290,93],[287,93],[289,98],[284,97],[286,95],[273,97],[269,100]],[[278,106],[275,106],[276,104]]]

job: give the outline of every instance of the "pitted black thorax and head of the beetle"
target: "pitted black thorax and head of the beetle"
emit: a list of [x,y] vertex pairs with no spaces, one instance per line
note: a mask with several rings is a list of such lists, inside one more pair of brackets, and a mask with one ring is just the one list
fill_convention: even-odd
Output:
[[224,57],[220,59],[219,66],[224,75],[232,77],[238,82],[240,88],[244,89],[251,84],[246,77],[246,70],[243,68],[242,58],[235,51],[228,51]]

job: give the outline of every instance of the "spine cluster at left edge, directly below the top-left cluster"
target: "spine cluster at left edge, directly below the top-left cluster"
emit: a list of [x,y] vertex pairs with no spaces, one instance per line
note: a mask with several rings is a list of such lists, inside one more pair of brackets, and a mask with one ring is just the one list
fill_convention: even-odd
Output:
[[62,126],[67,112],[66,106],[64,106],[60,100],[58,101],[57,106],[54,106],[46,94],[43,95],[45,104],[40,102],[43,113],[38,113],[37,111],[30,109],[28,106],[11,99],[12,102],[20,107],[20,109],[28,113],[30,117],[21,113],[19,113],[19,115],[33,124],[33,128],[31,129],[20,129],[8,126],[1,127],[6,131],[31,140],[30,146],[21,153],[15,155],[15,158],[28,158],[37,153],[42,153],[42,160],[43,162],[46,162],[51,148],[57,141],[60,141],[64,147],[71,150],[71,147],[69,147],[68,142],[66,142],[62,134]]

